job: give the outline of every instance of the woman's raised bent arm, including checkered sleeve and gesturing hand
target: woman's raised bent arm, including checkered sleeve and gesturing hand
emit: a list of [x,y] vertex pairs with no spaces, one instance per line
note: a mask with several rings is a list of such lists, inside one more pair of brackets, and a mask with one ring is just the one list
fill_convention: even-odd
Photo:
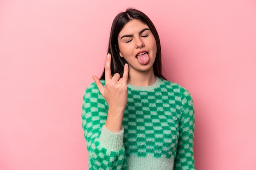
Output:
[[90,169],[126,169],[122,121],[127,105],[128,65],[121,78],[111,75],[111,56],[105,65],[105,86],[97,76],[86,89],[83,104],[83,129],[89,153]]

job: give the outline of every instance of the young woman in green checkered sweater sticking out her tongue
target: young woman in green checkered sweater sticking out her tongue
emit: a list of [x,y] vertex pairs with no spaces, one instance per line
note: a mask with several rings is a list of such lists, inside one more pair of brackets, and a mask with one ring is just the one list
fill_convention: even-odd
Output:
[[141,11],[115,17],[105,70],[83,98],[89,169],[194,170],[189,92],[162,75],[155,26]]

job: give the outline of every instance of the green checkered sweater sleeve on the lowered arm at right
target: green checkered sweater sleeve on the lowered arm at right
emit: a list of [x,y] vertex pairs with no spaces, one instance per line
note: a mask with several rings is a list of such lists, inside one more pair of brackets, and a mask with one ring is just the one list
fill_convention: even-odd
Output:
[[195,124],[193,99],[187,90],[182,89],[182,91],[182,116],[179,125],[179,139],[177,144],[177,154],[175,157],[174,170],[195,170],[195,161],[193,156]]

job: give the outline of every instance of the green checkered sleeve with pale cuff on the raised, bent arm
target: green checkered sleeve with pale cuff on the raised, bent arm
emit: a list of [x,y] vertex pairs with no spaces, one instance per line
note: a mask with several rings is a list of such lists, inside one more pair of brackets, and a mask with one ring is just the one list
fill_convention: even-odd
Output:
[[126,169],[124,130],[113,133],[106,129],[108,104],[95,83],[89,85],[83,96],[82,126],[88,149],[88,169]]

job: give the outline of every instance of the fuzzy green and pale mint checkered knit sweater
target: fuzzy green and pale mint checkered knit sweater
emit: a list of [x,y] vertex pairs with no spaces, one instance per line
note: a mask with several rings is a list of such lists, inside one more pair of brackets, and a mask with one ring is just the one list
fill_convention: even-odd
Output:
[[107,113],[108,103],[92,83],[82,107],[90,170],[195,170],[193,101],[180,85],[160,78],[148,87],[128,84],[119,133],[104,126]]

